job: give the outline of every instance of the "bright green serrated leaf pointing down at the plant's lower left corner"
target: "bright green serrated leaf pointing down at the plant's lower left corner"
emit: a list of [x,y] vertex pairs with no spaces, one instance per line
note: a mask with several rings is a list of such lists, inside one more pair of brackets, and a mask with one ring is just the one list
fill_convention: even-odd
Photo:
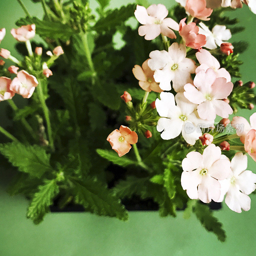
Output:
[[38,187],[38,192],[35,193],[28,207],[27,218],[32,219],[35,224],[39,224],[44,215],[49,212],[49,206],[58,193],[59,187],[56,180],[46,180],[44,185]]

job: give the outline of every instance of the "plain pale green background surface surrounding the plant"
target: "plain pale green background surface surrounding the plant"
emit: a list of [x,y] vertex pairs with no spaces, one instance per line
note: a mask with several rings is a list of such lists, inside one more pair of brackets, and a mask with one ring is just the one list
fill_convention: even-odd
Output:
[[[42,17],[40,4],[23,0],[30,14]],[[130,1],[112,0],[112,7]],[[174,0],[150,1],[167,7]],[[92,1],[92,7],[96,2]],[[19,57],[14,50],[15,40],[9,34],[15,21],[24,16],[16,0],[0,1],[0,28],[5,27],[7,35],[1,47]],[[255,41],[256,15],[244,6],[231,12],[238,17],[246,30],[232,37],[232,41],[246,40],[249,49],[241,55],[243,81],[256,81]],[[1,102],[0,118],[4,126],[4,108]],[[255,110],[239,111],[247,119]],[[249,159],[249,170],[256,172],[256,164]],[[28,202],[23,196],[10,197],[6,192],[7,182],[12,179],[8,170],[0,170],[0,256],[181,256],[181,255],[256,255],[256,196],[252,195],[251,210],[235,213],[226,205],[215,216],[227,231],[227,242],[220,243],[212,233],[201,227],[194,216],[189,220],[178,212],[176,219],[160,218],[158,212],[130,212],[127,222],[108,217],[97,217],[90,213],[50,213],[36,226],[27,220]]]

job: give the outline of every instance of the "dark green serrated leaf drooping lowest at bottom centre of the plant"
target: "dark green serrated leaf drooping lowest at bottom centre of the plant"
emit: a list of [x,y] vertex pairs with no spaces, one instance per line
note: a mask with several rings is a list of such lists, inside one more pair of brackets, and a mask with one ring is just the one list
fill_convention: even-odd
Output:
[[81,204],[91,213],[128,220],[128,212],[120,199],[107,186],[96,179],[86,177],[83,181],[69,178],[73,183],[75,203]]

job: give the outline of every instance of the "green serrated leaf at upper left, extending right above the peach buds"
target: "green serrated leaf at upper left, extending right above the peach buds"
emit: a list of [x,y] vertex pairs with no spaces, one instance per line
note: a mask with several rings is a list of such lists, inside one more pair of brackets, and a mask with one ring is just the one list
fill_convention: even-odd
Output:
[[75,31],[71,29],[67,24],[62,24],[57,20],[54,20],[53,22],[47,20],[39,20],[36,17],[26,17],[16,21],[16,25],[18,27],[28,24],[36,25],[36,34],[52,39],[59,38],[63,41],[68,40],[75,33]]

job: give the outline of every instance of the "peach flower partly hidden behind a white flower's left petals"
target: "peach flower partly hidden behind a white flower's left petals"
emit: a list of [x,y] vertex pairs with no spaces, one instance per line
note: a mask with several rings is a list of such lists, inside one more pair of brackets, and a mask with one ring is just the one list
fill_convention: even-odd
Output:
[[132,68],[132,73],[135,78],[139,80],[139,85],[143,90],[147,92],[163,92],[159,84],[155,82],[154,71],[148,67],[148,60],[143,62],[142,68],[139,65],[135,65],[134,68]]

